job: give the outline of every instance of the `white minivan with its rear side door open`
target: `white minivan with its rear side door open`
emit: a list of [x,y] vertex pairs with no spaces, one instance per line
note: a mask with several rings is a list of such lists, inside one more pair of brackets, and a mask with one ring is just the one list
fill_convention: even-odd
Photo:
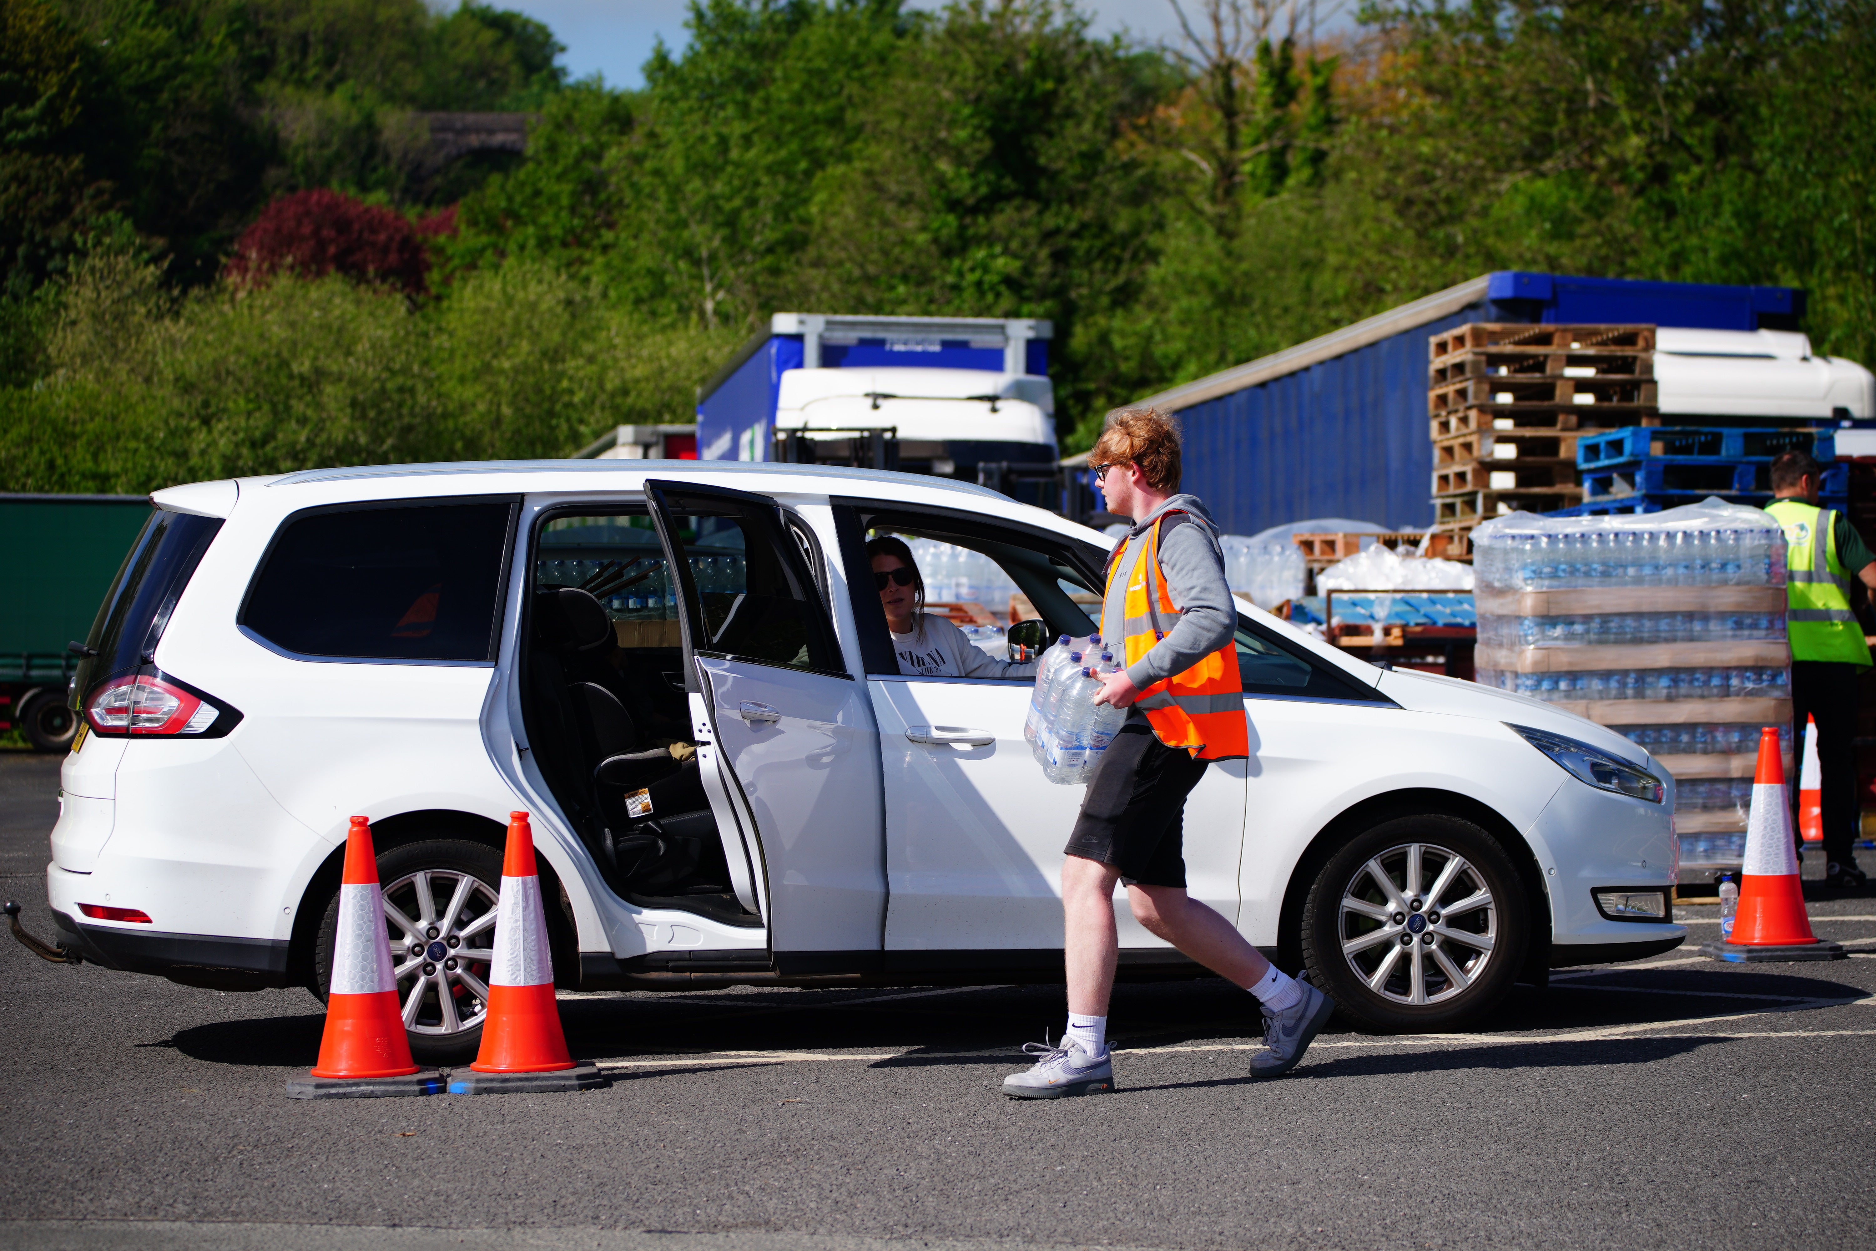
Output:
[[[360,812],[413,1048],[461,1060],[525,808],[563,987],[1062,977],[1082,790],[1034,763],[1028,681],[899,673],[865,542],[981,553],[1034,640],[1094,630],[1099,533],[957,482],[709,461],[152,501],[73,688],[47,895],[84,958],[323,994]],[[1673,782],[1642,748],[1251,608],[1236,641],[1251,756],[1188,801],[1189,889],[1351,1020],[1452,1028],[1685,938]],[[1201,972],[1116,915],[1122,975]]]

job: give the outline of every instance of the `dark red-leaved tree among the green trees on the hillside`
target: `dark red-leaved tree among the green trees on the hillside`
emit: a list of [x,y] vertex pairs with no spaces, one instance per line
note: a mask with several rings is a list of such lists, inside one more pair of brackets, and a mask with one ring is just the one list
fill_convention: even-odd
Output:
[[345,274],[424,291],[430,257],[416,229],[388,208],[338,191],[283,195],[248,227],[229,259],[234,281],[266,281],[280,270],[306,278]]

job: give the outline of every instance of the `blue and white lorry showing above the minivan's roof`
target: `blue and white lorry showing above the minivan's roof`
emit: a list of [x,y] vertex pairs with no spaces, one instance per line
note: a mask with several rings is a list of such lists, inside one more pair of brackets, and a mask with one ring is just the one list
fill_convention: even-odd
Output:
[[1052,334],[1030,317],[775,313],[698,390],[698,458],[1052,490]]

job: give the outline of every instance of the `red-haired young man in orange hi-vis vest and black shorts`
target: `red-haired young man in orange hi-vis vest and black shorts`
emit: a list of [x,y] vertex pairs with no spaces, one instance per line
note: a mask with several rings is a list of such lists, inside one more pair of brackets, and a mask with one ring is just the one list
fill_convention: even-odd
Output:
[[1264,1048],[1251,1056],[1251,1077],[1278,1077],[1302,1060],[1336,1005],[1186,895],[1186,795],[1210,761],[1249,756],[1238,613],[1218,531],[1195,495],[1178,493],[1178,430],[1161,413],[1111,414],[1088,465],[1107,510],[1133,518],[1107,559],[1101,600],[1101,640],[1124,640],[1126,668],[1094,694],[1131,711],[1096,765],[1064,850],[1067,1032],[1058,1047],[1026,1045],[1037,1062],[1004,1080],[1004,1093],[1058,1099],[1114,1088],[1107,1000],[1120,951],[1116,882],[1127,885],[1141,925],[1257,996]]

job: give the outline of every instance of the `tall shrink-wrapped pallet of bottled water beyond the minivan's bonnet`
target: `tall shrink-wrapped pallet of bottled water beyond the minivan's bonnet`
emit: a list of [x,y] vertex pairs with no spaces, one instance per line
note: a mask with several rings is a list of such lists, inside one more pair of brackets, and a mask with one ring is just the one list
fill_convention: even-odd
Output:
[[1745,855],[1758,735],[1790,752],[1784,533],[1745,505],[1473,531],[1476,681],[1647,748],[1675,780],[1683,880]]

